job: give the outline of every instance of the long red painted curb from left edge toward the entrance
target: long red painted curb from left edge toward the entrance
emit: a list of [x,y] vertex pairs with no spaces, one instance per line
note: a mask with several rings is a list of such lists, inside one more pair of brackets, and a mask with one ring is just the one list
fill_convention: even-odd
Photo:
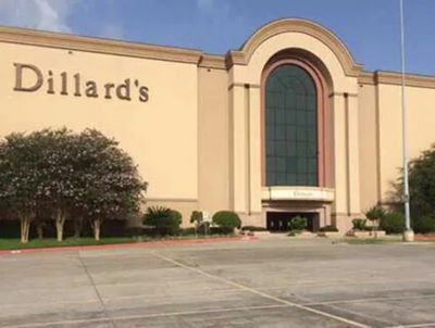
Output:
[[162,240],[162,241],[149,241],[149,242],[7,250],[7,251],[0,251],[0,255],[61,253],[61,252],[74,252],[74,251],[98,251],[98,250],[114,250],[114,249],[162,248],[162,247],[171,247],[177,244],[183,245],[183,244],[215,243],[224,241],[257,241],[257,240],[258,240],[257,237],[220,237],[220,238],[207,238],[207,239]]

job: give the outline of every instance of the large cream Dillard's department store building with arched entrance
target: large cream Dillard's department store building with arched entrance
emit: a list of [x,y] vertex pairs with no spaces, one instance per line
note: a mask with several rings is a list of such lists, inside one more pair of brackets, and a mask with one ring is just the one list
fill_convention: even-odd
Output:
[[[401,166],[400,75],[365,72],[331,30],[281,20],[226,55],[0,27],[0,136],[114,137],[148,205],[233,210],[277,228],[345,231],[385,204]],[[407,76],[410,155],[435,140],[435,77]]]

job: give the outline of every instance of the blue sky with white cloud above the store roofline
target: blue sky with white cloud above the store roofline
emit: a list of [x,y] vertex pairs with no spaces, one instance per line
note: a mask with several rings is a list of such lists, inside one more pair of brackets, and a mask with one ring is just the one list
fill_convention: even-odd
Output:
[[[435,75],[435,0],[403,0],[407,72]],[[399,0],[0,0],[0,25],[224,54],[302,17],[332,29],[366,71],[400,70]]]

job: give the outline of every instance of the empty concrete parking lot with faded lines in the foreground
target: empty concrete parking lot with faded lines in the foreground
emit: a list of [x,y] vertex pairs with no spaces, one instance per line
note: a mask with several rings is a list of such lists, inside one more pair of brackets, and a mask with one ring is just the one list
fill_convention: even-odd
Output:
[[290,238],[0,256],[0,327],[435,327],[435,244]]

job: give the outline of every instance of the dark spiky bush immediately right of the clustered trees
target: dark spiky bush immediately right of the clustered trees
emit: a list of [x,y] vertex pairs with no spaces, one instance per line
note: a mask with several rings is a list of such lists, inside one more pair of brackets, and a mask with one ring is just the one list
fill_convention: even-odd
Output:
[[151,206],[144,215],[144,224],[154,227],[154,232],[159,236],[178,234],[182,219],[178,211],[162,206]]

